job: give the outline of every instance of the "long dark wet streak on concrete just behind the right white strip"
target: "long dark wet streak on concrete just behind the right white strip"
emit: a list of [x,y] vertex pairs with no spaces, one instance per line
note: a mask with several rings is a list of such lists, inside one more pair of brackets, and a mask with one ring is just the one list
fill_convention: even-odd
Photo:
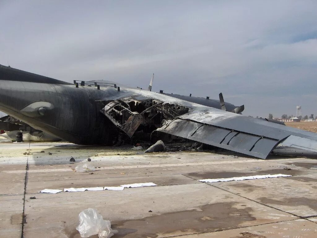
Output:
[[265,175],[265,174],[289,174],[289,175],[301,175],[304,172],[300,170],[285,170],[283,168],[279,169],[268,169],[268,170],[254,170],[250,172],[197,172],[184,174],[185,176],[200,180],[200,179],[219,179],[219,178],[232,178],[232,177],[242,177],[251,175]]

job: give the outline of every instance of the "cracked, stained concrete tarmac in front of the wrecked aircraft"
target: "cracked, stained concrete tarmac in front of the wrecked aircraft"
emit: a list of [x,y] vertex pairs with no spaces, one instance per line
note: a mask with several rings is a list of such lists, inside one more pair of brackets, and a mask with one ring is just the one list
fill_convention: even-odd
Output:
[[[131,147],[0,143],[0,237],[80,237],[78,214],[89,207],[118,229],[113,237],[317,235],[317,170],[309,169],[315,159],[273,155],[260,160],[225,151],[144,154]],[[97,167],[94,174],[74,172],[84,161]],[[279,173],[292,177],[197,181]],[[38,193],[141,182],[158,186]]]

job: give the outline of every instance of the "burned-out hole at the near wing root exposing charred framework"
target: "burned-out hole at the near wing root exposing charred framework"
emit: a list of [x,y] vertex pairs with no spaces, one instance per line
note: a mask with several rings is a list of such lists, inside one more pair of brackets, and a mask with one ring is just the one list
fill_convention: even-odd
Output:
[[139,130],[152,132],[161,127],[165,120],[181,116],[188,111],[188,107],[177,104],[146,97],[127,97],[108,102],[100,112],[132,137]]

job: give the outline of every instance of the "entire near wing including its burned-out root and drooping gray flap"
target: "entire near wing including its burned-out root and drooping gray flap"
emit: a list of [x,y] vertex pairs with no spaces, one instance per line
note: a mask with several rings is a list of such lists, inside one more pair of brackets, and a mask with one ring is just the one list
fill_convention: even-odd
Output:
[[[161,113],[164,122],[156,131],[246,155],[265,159],[280,143],[317,152],[317,134],[313,132],[145,90],[122,87],[117,97],[107,95],[109,103],[101,113],[130,137],[139,125],[149,124]],[[143,105],[143,112],[131,108],[137,104]]]

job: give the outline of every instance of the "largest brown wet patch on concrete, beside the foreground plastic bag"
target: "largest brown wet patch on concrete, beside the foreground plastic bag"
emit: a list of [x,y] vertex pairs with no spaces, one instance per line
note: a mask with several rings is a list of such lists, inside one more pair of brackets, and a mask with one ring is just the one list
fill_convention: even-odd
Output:
[[[116,237],[151,237],[159,235],[181,235],[239,228],[239,224],[254,221],[252,209],[237,209],[236,203],[216,203],[201,206],[200,209],[157,214],[138,220],[114,221],[119,230]],[[156,212],[156,211],[153,211]],[[157,211],[159,212],[159,211]],[[124,228],[124,229],[123,229]]]

